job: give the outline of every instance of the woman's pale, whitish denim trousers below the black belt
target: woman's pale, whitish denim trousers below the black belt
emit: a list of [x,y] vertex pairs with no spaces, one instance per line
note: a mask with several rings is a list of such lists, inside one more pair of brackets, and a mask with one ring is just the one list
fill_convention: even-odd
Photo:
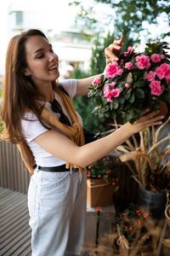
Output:
[[86,172],[31,176],[28,208],[32,256],[80,255],[86,218]]

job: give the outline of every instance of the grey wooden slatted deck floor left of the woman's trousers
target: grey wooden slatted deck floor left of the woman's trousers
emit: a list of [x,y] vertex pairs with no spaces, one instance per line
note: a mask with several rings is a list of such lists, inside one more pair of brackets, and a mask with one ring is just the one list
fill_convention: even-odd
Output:
[[0,255],[30,256],[31,229],[26,195],[0,188]]

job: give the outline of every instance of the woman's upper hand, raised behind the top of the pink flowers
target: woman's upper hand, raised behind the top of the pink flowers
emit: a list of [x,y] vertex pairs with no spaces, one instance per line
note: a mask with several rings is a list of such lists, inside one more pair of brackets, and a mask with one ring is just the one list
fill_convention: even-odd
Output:
[[113,61],[118,61],[118,56],[122,51],[122,44],[124,37],[121,36],[119,40],[114,40],[107,48],[105,48],[105,62],[109,64]]

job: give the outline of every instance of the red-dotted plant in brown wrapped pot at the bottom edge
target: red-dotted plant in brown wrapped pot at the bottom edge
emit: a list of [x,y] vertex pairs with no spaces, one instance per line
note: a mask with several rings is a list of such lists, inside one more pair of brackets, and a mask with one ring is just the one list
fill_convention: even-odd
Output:
[[120,256],[143,255],[147,252],[155,255],[161,230],[153,222],[150,212],[143,207],[131,203],[124,212],[118,212],[116,230]]

